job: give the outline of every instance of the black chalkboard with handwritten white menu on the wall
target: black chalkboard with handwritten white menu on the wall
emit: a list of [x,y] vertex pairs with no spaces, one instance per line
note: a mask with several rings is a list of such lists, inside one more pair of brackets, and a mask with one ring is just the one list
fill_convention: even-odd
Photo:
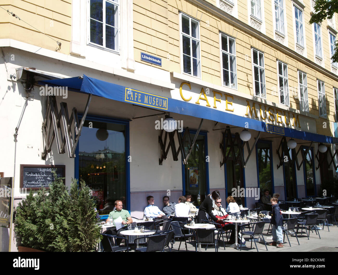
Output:
[[[20,165],[20,188],[39,190],[42,187],[49,189],[54,180],[52,170],[55,169],[58,177],[65,177],[65,165]],[[65,182],[65,180],[64,180]]]

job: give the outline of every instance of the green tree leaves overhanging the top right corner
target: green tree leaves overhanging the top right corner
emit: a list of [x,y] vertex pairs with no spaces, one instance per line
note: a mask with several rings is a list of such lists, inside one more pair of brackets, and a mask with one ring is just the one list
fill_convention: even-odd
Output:
[[[309,23],[320,23],[326,18],[331,19],[338,12],[338,1],[316,0],[314,6],[315,14],[310,18]],[[338,44],[335,45],[335,53],[331,57],[332,62],[338,62]]]

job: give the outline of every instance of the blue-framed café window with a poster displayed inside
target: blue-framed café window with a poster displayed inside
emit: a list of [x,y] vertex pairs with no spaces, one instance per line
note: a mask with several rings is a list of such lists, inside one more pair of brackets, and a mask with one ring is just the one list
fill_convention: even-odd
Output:
[[[189,139],[188,132],[184,132],[186,133],[184,135],[184,150],[186,154],[188,154],[191,141],[196,134],[195,131],[189,131],[191,140]],[[199,132],[195,145],[189,155],[188,164],[183,165],[183,193],[191,194],[191,202],[196,206],[199,206],[209,194],[207,155],[207,133]]]

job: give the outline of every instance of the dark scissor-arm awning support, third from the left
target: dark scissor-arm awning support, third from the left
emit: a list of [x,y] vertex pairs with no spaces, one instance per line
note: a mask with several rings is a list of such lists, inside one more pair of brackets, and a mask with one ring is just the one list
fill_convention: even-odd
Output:
[[[249,157],[252,154],[252,151],[254,151],[254,149],[255,149],[255,146],[258,142],[260,135],[261,135],[261,132],[259,131],[256,138],[255,138],[254,144],[252,144],[252,146],[250,148],[248,141],[245,141],[245,142],[242,143],[242,140],[241,140],[238,132],[236,132],[235,136],[233,137],[230,127],[226,126],[225,131],[223,132],[222,142],[219,144],[219,148],[221,149],[221,152],[222,152],[222,155],[223,155],[223,160],[219,162],[220,167],[222,167],[226,163],[226,161],[230,157],[230,153],[232,152],[235,163],[237,163],[238,159],[240,159],[243,167],[245,168],[246,164],[249,160]],[[237,144],[236,144],[236,142],[237,142]],[[238,153],[237,157],[236,157],[235,149],[234,149],[235,145],[238,146],[238,148],[239,148],[239,153]],[[245,146],[246,146],[247,151],[248,151],[248,156],[247,156],[246,159],[244,158],[244,153],[243,153]],[[226,153],[227,148],[230,148],[228,153]]]

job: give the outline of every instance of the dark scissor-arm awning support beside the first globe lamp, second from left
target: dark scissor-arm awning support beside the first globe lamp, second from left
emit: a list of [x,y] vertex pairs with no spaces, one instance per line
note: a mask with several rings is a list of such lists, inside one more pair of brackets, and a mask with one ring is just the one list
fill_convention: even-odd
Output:
[[[191,139],[191,134],[189,131],[189,127],[186,127],[186,130],[184,132],[184,135],[182,136],[178,130],[174,130],[173,132],[167,132],[165,130],[161,130],[161,134],[159,135],[159,144],[160,144],[160,148],[161,148],[161,158],[159,158],[159,165],[162,165],[163,160],[167,159],[168,156],[168,152],[169,149],[171,148],[171,153],[173,156],[173,160],[177,161],[178,160],[178,155],[179,153],[182,154],[183,157],[183,163],[184,164],[188,164],[188,159],[189,156],[195,146],[198,134],[201,130],[202,124],[203,124],[204,119],[201,119],[201,122],[199,123],[198,129],[196,131],[195,137],[192,140]],[[164,134],[164,141],[163,141],[163,132],[165,132]],[[176,150],[176,145],[175,145],[175,133],[177,134],[177,140],[178,140],[178,149]],[[186,154],[186,151],[184,150],[184,141],[186,139],[186,137],[188,138],[188,152]],[[169,138],[169,142],[168,142],[168,146],[167,146],[167,139]],[[166,148],[167,146],[167,148]]]

